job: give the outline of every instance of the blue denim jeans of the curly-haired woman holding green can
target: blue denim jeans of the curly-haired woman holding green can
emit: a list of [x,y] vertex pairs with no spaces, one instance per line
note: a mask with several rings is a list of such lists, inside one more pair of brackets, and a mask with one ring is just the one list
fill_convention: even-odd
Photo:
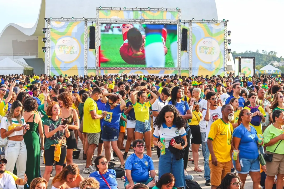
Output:
[[183,159],[176,160],[175,154],[172,154],[172,152],[168,148],[166,148],[166,154],[160,154],[159,179],[165,173],[172,173],[174,175],[174,177],[176,178],[176,188],[185,187]]

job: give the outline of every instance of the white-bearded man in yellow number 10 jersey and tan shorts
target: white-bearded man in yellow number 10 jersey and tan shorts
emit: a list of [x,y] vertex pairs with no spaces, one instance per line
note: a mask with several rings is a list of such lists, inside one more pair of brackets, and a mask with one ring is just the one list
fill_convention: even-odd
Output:
[[210,152],[211,189],[216,189],[225,175],[231,172],[230,150],[234,150],[231,143],[233,126],[230,123],[230,120],[234,119],[234,108],[230,104],[225,104],[221,111],[222,118],[212,123],[207,140]]

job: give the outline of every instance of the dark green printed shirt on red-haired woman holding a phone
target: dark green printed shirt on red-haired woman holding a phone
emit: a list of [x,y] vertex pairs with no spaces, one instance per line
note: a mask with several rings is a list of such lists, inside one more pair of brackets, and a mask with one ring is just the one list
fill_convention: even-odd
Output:
[[[43,125],[49,126],[49,132],[56,129],[59,125],[62,125],[62,118],[58,118],[57,121],[52,120],[51,118],[47,118]],[[66,146],[66,137],[65,137],[65,131],[57,131],[52,137],[47,138],[45,136],[45,144],[44,149],[48,150],[51,145],[57,145],[60,144],[62,146]],[[45,133],[44,133],[45,135]]]

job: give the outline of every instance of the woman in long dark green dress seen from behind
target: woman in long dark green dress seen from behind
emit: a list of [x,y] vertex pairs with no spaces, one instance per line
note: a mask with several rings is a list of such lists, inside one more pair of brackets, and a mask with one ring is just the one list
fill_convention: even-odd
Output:
[[[26,175],[28,177],[28,185],[30,185],[34,178],[40,176],[40,150],[44,150],[44,134],[41,117],[35,113],[38,107],[36,100],[32,97],[26,97],[23,106],[25,110],[24,119],[30,125],[30,129],[24,135],[27,148]],[[41,146],[39,146],[39,135],[37,133],[40,135]]]

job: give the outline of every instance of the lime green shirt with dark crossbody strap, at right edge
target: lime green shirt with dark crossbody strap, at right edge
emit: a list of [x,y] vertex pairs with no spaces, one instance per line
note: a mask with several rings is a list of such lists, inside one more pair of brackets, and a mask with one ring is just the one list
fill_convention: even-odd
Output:
[[[267,144],[269,141],[283,133],[282,129],[275,128],[272,124],[268,126],[263,133],[263,143]],[[277,141],[272,146],[267,146],[266,151],[272,152],[275,150],[276,146],[279,144],[281,140]],[[284,143],[283,141],[279,144],[279,146],[275,150],[276,154],[284,154]]]

